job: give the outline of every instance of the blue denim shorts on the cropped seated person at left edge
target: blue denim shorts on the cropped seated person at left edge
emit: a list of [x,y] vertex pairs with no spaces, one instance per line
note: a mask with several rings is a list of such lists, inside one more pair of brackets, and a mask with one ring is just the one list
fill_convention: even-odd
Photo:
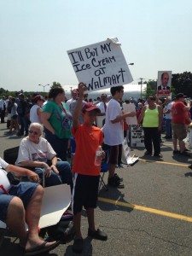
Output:
[[10,201],[14,196],[20,197],[20,200],[23,202],[24,207],[27,207],[27,204],[32,198],[32,195],[37,189],[38,183],[30,182],[21,182],[16,186],[12,186],[9,189],[9,195],[1,194],[0,195],[0,220],[6,222],[7,212]]

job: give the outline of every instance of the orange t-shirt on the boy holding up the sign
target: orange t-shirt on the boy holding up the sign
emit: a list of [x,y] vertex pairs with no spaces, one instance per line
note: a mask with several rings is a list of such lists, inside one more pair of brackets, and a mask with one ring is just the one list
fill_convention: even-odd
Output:
[[73,160],[73,172],[97,176],[101,166],[95,166],[96,149],[102,145],[103,133],[96,126],[79,125],[72,129],[76,149]]

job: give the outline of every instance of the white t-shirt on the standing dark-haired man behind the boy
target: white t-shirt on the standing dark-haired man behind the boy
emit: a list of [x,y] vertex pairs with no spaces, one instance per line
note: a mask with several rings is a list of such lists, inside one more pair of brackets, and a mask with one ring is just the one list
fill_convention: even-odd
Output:
[[102,131],[104,133],[104,143],[109,146],[115,146],[123,143],[123,124],[121,122],[112,124],[111,122],[121,114],[122,111],[119,102],[111,99],[108,102],[105,125],[102,128]]

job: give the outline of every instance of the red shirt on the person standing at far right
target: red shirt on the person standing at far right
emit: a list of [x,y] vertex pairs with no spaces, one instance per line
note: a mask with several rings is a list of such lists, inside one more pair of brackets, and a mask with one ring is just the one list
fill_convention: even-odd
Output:
[[172,123],[185,124],[186,110],[183,102],[174,102],[172,105]]

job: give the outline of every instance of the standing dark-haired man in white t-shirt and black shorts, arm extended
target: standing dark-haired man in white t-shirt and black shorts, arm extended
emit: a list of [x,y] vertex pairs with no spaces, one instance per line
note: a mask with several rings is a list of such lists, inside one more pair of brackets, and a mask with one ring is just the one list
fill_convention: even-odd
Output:
[[106,111],[105,125],[103,126],[104,143],[110,147],[109,150],[109,170],[108,185],[116,188],[124,188],[120,178],[115,172],[118,164],[119,145],[123,143],[123,120],[128,116],[135,116],[135,112],[122,113],[119,99],[124,95],[124,87],[122,85],[111,87],[112,99],[108,102]]

